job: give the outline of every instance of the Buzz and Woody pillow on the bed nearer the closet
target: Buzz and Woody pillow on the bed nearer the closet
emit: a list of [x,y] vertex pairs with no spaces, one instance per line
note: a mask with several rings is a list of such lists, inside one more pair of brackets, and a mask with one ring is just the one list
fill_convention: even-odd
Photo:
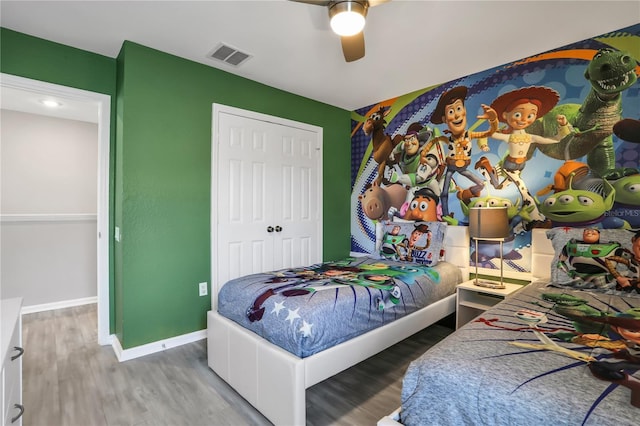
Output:
[[445,222],[382,223],[378,254],[381,259],[437,265],[444,258]]

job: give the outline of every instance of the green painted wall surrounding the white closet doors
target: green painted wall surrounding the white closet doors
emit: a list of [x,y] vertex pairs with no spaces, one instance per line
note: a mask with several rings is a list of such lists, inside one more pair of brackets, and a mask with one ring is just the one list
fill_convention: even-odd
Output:
[[323,128],[323,257],[349,253],[350,111],[133,42],[112,59],[2,29],[1,59],[5,73],[113,96],[111,218],[122,238],[110,317],[124,349],[206,327],[210,298],[197,283],[211,283],[213,103]]

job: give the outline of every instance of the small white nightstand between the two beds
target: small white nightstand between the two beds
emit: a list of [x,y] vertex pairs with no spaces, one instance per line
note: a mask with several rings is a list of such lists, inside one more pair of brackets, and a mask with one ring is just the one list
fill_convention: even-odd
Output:
[[506,288],[486,288],[474,284],[475,279],[458,284],[456,290],[456,329],[482,312],[520,290],[522,285],[504,283]]

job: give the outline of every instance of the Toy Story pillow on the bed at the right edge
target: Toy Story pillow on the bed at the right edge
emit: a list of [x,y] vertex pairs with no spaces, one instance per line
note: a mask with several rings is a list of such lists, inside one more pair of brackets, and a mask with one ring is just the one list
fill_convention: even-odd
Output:
[[[587,231],[585,234],[585,230]],[[551,285],[608,294],[639,296],[638,265],[631,250],[635,231],[559,227],[547,231],[553,245]],[[590,232],[590,233],[589,233]],[[598,238],[599,233],[599,238]],[[615,276],[635,279],[621,287]]]

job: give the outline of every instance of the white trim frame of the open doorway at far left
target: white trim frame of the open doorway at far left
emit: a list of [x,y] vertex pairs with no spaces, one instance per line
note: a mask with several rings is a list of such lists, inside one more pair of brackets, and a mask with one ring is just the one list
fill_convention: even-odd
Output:
[[98,343],[100,345],[110,345],[112,340],[109,332],[109,155],[111,144],[111,96],[5,73],[0,73],[0,86],[72,99],[74,101],[94,103],[98,106]]

